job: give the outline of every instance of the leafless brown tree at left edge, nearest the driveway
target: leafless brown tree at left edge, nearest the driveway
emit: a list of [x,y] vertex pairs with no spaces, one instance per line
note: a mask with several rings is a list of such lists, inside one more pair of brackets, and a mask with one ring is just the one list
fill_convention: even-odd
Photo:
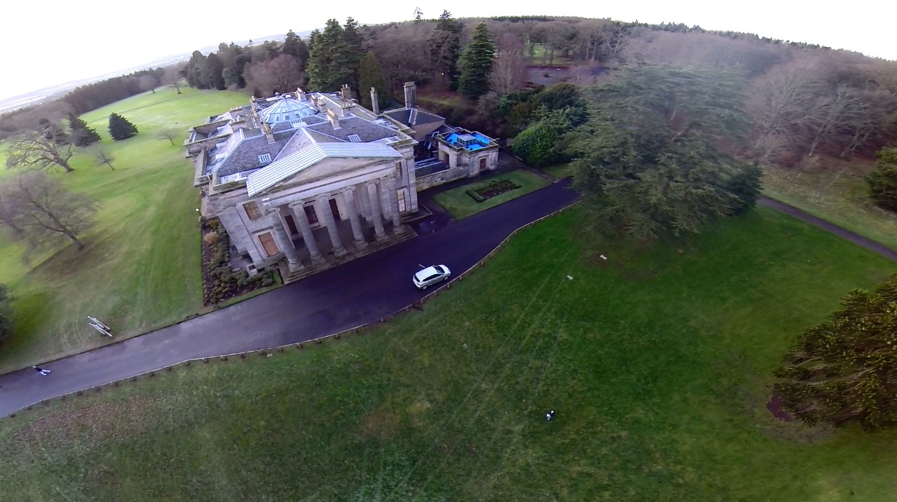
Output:
[[68,191],[55,177],[43,172],[25,172],[10,177],[6,184],[16,226],[34,246],[56,244],[66,238],[78,250],[79,237],[91,228],[97,203],[87,195]]

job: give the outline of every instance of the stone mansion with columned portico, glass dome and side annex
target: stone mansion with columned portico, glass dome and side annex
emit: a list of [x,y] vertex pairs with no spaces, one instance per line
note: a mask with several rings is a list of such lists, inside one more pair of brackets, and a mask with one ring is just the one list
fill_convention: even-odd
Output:
[[191,128],[187,157],[203,216],[231,238],[231,264],[285,281],[410,238],[417,193],[495,169],[498,143],[416,107],[361,107],[335,93],[253,97]]

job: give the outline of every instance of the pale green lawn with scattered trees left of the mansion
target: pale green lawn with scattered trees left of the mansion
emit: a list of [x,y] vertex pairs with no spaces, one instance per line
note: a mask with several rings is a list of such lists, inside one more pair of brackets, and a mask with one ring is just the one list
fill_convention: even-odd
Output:
[[[247,99],[235,92],[183,92],[144,93],[83,115],[115,156],[115,170],[80,153],[72,160],[73,173],[53,176],[100,201],[98,224],[83,239],[83,251],[65,247],[31,256],[29,264],[22,263],[21,246],[0,243],[0,282],[12,287],[17,315],[16,333],[0,346],[0,372],[108,342],[87,325],[89,315],[122,338],[202,307],[199,194],[181,143],[190,125]],[[112,142],[111,112],[134,123],[140,134]],[[183,130],[173,145],[156,138],[168,125]]]

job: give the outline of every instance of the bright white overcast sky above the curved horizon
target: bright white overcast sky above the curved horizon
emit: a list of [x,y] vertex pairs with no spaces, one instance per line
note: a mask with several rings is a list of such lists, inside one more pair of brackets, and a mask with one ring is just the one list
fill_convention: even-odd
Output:
[[[266,5],[275,7],[266,12]],[[328,5],[338,9],[327,10]],[[190,53],[221,41],[264,37],[291,29],[312,30],[331,17],[343,22],[353,16],[362,24],[404,21],[411,19],[416,6],[428,18],[448,8],[456,17],[545,14],[684,22],[709,30],[753,32],[897,60],[897,41],[891,26],[897,17],[894,0],[840,4],[838,8],[806,0],[488,0],[445,4],[420,0],[9,0],[0,6],[0,47],[4,48],[4,68],[10,71],[0,79],[0,99],[142,65],[160,56]],[[851,6],[857,6],[856,14],[850,13]]]

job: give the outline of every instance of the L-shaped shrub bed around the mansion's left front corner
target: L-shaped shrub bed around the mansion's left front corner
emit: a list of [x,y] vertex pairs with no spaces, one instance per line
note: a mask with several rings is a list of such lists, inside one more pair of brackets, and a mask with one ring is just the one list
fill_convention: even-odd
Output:
[[203,234],[203,303],[205,306],[239,297],[249,291],[274,284],[274,273],[258,273],[252,277],[246,272],[231,270],[231,238],[217,218],[202,220],[199,229]]

